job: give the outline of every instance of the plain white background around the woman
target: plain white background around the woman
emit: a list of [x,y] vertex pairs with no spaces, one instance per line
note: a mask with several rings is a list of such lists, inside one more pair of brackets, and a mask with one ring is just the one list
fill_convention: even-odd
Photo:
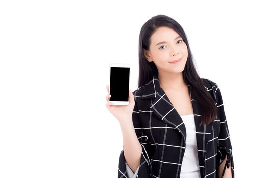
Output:
[[266,7],[1,1],[0,177],[117,177],[123,140],[105,106],[109,64],[129,63],[136,90],[140,28],[158,14],[181,24],[201,78],[221,89],[236,177],[266,176]]

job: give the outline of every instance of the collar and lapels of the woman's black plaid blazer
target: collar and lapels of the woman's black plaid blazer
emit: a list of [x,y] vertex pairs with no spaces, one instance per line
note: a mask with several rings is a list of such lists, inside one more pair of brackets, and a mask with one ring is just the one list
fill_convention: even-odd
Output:
[[[183,120],[181,116],[179,115],[179,113],[175,110],[170,100],[168,99],[164,90],[160,87],[158,76],[154,74],[152,80],[146,83],[143,87],[144,88],[143,88],[142,99],[152,98],[152,104],[150,105],[152,112],[155,115],[157,115],[157,117],[161,121],[165,122],[170,127],[177,128],[179,133],[182,134],[184,141],[186,141],[187,134],[186,134],[186,128],[183,123]],[[191,98],[191,104],[193,107],[194,122],[196,125],[197,147],[199,150],[206,150],[212,124],[200,125],[201,123],[201,113],[199,110],[200,106],[196,98],[192,96],[191,86],[188,85],[188,88],[189,88],[189,93],[190,93],[190,98]],[[201,137],[202,139],[198,139]],[[204,154],[203,154],[203,159],[205,160]]]

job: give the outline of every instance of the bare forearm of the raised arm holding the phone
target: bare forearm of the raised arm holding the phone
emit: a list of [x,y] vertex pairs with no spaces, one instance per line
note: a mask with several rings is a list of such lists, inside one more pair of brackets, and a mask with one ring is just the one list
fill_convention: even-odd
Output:
[[[130,121],[130,120],[126,120]],[[131,119],[132,121],[132,119]],[[137,138],[132,122],[120,123],[123,136],[124,156],[128,166],[136,172],[141,159],[141,145]]]

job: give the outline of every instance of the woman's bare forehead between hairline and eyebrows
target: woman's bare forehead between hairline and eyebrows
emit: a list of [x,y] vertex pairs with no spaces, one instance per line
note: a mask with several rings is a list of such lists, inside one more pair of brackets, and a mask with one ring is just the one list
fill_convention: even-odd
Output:
[[151,36],[152,44],[156,44],[161,41],[174,41],[174,38],[178,37],[179,34],[171,27],[161,26]]

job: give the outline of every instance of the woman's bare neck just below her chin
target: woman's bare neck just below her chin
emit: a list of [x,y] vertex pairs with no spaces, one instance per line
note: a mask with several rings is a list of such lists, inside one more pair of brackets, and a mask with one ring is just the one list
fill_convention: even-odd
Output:
[[158,73],[160,87],[163,90],[183,90],[187,84],[183,80],[182,72],[180,73]]

